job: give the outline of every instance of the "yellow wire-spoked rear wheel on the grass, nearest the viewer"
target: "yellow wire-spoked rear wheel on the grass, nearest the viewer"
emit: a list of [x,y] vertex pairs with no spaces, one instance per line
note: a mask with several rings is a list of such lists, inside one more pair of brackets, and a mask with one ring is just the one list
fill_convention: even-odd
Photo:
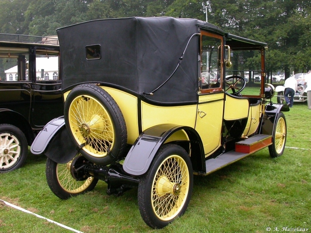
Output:
[[192,189],[193,168],[188,153],[178,145],[162,146],[149,171],[139,180],[138,206],[142,219],[155,229],[167,226],[186,211]]

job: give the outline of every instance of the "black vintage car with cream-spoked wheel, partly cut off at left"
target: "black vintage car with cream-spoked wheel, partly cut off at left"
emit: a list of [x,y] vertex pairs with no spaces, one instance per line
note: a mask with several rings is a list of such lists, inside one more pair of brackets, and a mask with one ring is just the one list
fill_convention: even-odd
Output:
[[43,126],[63,115],[57,38],[0,34],[0,173],[21,167]]

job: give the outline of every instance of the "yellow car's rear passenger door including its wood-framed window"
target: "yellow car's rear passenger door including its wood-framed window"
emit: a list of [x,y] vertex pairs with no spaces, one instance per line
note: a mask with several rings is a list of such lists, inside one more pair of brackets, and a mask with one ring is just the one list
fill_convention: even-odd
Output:
[[201,136],[205,156],[221,145],[225,93],[222,87],[223,37],[201,31],[201,90],[198,94],[195,129]]

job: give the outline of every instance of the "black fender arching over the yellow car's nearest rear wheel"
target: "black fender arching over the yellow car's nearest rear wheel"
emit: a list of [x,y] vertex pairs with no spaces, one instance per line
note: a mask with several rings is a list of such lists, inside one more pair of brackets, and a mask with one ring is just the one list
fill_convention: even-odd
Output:
[[188,135],[193,170],[204,171],[205,157],[199,134],[192,127],[174,124],[158,125],[142,132],[124,160],[124,171],[135,176],[146,173],[160,146],[165,143],[170,135],[179,130],[184,130]]

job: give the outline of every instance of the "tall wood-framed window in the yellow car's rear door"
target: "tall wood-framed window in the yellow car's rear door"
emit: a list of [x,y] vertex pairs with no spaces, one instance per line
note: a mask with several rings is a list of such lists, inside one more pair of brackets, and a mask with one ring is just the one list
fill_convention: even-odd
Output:
[[202,92],[221,90],[221,66],[222,37],[210,33],[201,33]]

